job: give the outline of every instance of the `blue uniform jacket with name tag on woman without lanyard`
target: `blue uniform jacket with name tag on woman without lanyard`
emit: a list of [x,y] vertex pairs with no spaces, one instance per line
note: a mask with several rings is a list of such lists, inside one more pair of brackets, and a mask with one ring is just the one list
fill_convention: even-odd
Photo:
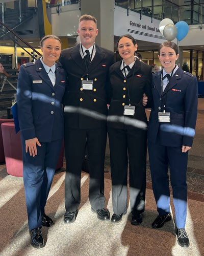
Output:
[[24,140],[37,137],[51,142],[64,136],[62,97],[66,72],[56,63],[53,86],[40,59],[20,67],[17,83],[17,109],[21,136]]

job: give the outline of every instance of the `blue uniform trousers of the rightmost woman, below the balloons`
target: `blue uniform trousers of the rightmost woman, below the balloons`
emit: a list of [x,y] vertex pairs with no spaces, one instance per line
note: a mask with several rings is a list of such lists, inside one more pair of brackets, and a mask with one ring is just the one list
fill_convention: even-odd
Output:
[[159,142],[152,143],[148,141],[147,144],[152,188],[159,215],[166,215],[170,212],[169,167],[176,227],[185,228],[187,214],[186,170],[188,152],[182,153],[181,147],[163,146]]

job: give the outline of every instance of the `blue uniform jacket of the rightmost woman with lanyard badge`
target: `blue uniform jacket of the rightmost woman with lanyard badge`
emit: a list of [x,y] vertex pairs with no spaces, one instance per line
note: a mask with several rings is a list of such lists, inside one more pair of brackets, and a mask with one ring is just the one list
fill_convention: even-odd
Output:
[[[166,88],[167,89],[167,88]],[[170,80],[166,112],[170,122],[159,123],[158,112],[163,112],[161,96],[161,71],[153,74],[152,95],[154,105],[149,117],[147,139],[164,146],[192,146],[197,117],[197,79],[192,74],[177,69]]]

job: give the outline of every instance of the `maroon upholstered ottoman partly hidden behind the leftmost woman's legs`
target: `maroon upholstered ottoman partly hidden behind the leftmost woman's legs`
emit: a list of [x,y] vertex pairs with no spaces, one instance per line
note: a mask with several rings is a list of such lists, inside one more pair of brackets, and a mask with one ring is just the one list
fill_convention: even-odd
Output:
[[[20,132],[15,134],[14,122],[2,123],[2,137],[7,173],[13,176],[22,177],[22,147]],[[63,166],[64,143],[56,169]]]

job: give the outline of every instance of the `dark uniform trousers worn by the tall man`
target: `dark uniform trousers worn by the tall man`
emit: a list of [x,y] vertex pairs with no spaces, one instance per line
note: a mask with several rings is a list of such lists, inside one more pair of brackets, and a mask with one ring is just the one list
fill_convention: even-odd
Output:
[[89,201],[93,209],[105,208],[104,159],[107,129],[70,129],[65,126],[65,157],[68,172],[65,178],[66,211],[78,209],[81,201],[81,172],[87,142],[89,153]]

